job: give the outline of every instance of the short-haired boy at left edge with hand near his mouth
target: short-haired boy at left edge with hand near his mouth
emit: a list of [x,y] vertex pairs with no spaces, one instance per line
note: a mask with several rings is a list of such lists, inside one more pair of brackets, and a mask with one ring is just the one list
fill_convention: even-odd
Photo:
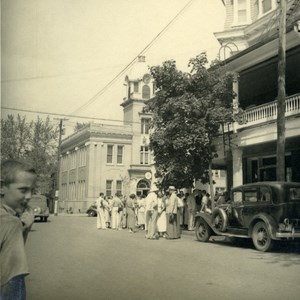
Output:
[[1,300],[26,299],[25,276],[29,271],[25,241],[34,221],[28,202],[35,181],[35,170],[26,162],[7,160],[1,164]]

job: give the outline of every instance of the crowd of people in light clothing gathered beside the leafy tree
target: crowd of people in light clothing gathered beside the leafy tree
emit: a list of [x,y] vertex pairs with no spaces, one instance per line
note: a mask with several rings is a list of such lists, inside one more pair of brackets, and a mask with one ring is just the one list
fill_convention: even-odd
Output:
[[153,187],[148,195],[128,198],[116,193],[105,197],[100,193],[96,200],[97,229],[122,230],[134,233],[136,228],[145,230],[147,239],[178,239],[182,229],[194,230],[197,211],[210,210],[209,194],[195,189],[192,194],[177,193],[174,186],[166,192]]

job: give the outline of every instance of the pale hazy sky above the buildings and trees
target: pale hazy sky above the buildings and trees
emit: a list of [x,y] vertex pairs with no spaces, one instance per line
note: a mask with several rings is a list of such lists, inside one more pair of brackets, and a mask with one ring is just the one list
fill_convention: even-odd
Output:
[[122,120],[130,69],[116,76],[151,41],[143,53],[149,66],[174,59],[185,71],[202,51],[215,59],[213,33],[225,21],[221,0],[2,0],[1,10],[2,117],[65,116],[69,128],[85,120],[75,112]]

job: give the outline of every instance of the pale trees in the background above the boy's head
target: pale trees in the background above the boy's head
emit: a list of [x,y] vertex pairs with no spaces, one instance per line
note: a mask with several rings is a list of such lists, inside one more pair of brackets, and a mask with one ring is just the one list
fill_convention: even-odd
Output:
[[42,192],[49,192],[51,175],[57,168],[58,128],[49,117],[27,122],[25,116],[1,119],[1,161],[22,158],[31,162],[38,174]]

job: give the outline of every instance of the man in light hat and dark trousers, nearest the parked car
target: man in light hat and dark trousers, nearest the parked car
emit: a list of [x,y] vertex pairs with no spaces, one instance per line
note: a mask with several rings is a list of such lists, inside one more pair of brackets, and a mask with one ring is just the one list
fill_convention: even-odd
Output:
[[177,225],[177,210],[178,210],[178,199],[176,195],[176,188],[170,186],[168,189],[170,193],[167,205],[166,205],[166,215],[167,215],[167,239],[178,239],[180,238],[180,231]]

